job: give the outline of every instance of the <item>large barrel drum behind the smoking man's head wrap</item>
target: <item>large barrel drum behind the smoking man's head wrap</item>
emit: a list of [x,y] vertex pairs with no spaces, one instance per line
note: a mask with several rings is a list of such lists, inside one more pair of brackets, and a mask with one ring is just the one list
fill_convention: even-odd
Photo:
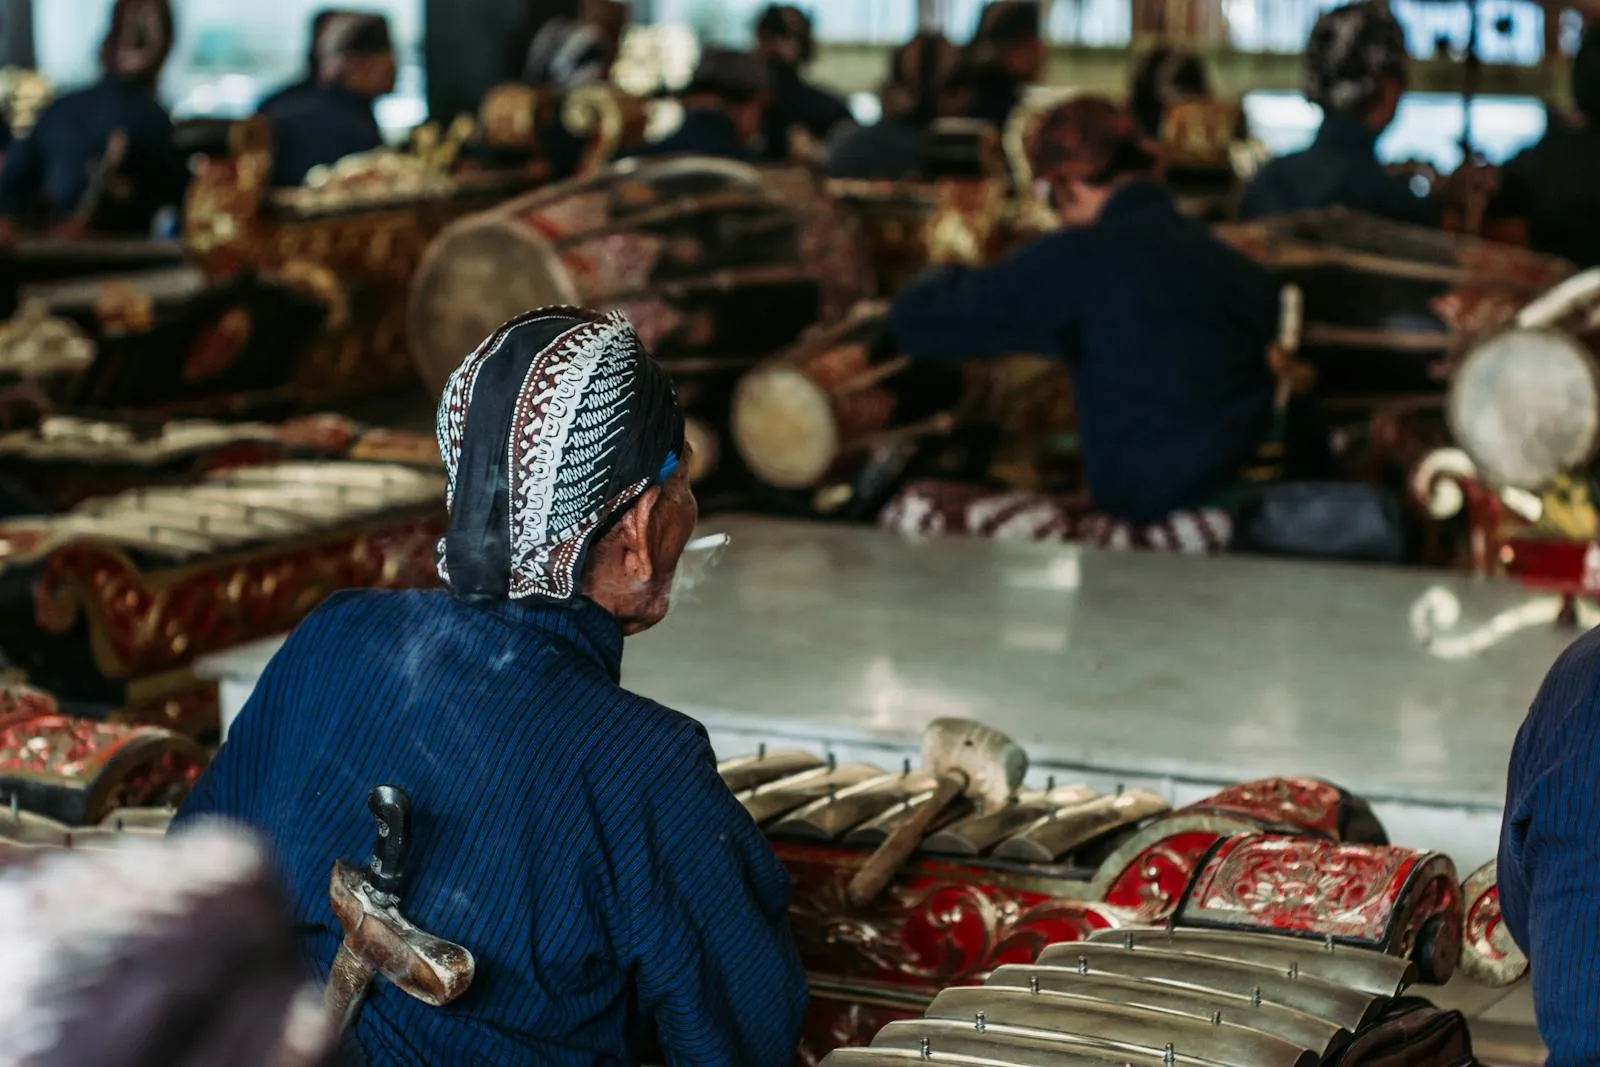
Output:
[[501,323],[549,304],[627,314],[669,368],[738,366],[838,318],[862,286],[858,243],[810,176],[624,162],[448,227],[413,280],[408,333],[435,390]]

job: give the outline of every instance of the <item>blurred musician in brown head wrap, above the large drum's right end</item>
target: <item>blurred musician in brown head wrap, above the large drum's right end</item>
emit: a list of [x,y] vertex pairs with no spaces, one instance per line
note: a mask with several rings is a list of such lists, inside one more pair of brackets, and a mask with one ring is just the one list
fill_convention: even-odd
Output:
[[878,98],[883,117],[877,123],[840,130],[829,141],[829,178],[920,178],[928,126],[966,114],[971,78],[955,45],[939,34],[918,34],[890,56],[890,80]]

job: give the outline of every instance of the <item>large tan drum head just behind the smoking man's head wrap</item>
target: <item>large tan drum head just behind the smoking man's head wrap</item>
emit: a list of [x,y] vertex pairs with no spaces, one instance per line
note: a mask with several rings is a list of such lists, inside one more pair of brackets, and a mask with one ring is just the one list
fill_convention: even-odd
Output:
[[504,214],[462,219],[429,245],[411,280],[411,362],[438,395],[450,373],[502,323],[534,307],[578,302],[544,238]]

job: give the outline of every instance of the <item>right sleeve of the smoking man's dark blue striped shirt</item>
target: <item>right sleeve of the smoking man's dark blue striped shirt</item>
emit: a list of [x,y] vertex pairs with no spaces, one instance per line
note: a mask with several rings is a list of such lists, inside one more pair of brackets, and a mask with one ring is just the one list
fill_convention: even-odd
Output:
[[624,811],[632,862],[611,870],[626,965],[672,1067],[789,1067],[806,981],[789,934],[789,875],[728,792],[704,731]]

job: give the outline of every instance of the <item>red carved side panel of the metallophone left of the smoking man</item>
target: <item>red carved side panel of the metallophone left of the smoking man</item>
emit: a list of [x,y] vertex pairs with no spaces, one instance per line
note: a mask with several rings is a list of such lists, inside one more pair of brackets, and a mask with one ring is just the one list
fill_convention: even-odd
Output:
[[45,563],[34,614],[64,633],[86,613],[101,672],[126,678],[282,633],[338,589],[430,585],[442,533],[442,518],[411,518],[149,576],[114,549],[67,545]]

